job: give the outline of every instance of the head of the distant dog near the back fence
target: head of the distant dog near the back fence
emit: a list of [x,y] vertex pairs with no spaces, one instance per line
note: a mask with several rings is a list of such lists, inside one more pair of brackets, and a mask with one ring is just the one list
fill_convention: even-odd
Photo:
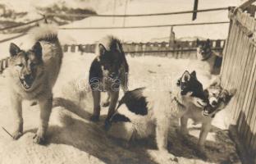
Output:
[[209,55],[211,55],[211,44],[210,40],[207,39],[206,41],[199,41],[197,39],[196,41],[196,46],[197,46],[197,57],[199,60],[203,61],[206,60]]

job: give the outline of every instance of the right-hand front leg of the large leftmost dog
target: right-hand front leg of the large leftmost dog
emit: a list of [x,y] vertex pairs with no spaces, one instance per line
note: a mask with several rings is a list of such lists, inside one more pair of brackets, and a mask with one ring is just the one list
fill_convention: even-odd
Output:
[[48,129],[48,121],[53,108],[53,96],[50,98],[43,98],[39,100],[40,107],[40,120],[39,120],[39,129],[34,135],[35,144],[44,144],[45,135]]

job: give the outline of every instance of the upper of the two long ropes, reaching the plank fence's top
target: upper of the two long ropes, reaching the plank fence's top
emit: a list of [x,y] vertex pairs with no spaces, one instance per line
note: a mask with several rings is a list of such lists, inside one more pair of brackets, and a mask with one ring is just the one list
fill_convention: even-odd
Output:
[[168,15],[177,15],[177,14],[188,14],[193,12],[206,12],[206,11],[222,11],[228,10],[228,7],[220,7],[220,8],[208,8],[201,10],[193,10],[193,11],[175,11],[175,12],[163,12],[163,13],[153,13],[153,14],[132,14],[132,15],[101,15],[101,14],[55,14],[55,13],[45,13],[46,16],[74,16],[74,17],[82,17],[82,16],[93,16],[93,17],[131,17],[131,16],[168,16]]

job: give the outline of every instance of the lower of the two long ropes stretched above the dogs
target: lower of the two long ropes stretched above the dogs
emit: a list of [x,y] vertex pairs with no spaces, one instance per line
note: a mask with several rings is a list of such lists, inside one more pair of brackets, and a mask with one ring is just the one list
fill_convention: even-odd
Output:
[[186,25],[215,25],[227,24],[229,21],[217,22],[202,22],[202,23],[185,23],[185,24],[172,24],[172,25],[141,25],[141,26],[112,26],[112,27],[61,27],[60,30],[102,30],[102,29],[139,29],[139,28],[153,28],[153,27],[170,27],[170,26],[186,26]]

